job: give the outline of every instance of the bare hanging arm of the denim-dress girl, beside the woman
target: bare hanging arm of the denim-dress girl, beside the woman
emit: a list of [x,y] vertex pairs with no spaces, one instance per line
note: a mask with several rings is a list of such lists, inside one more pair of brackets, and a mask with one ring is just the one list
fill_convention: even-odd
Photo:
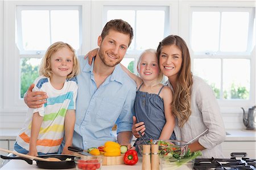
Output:
[[175,126],[175,117],[171,111],[172,91],[168,86],[164,86],[161,93],[164,102],[164,116],[166,117],[166,124],[163,127],[159,139],[168,140],[171,138]]

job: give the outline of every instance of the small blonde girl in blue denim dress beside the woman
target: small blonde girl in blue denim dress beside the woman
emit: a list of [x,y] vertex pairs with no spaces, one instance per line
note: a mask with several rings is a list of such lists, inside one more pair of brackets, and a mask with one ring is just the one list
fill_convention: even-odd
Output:
[[144,122],[144,138],[176,139],[173,134],[175,118],[171,111],[172,92],[168,86],[161,84],[163,73],[160,71],[155,49],[147,49],[139,57],[139,77],[123,65],[122,68],[137,84],[135,117],[138,122]]

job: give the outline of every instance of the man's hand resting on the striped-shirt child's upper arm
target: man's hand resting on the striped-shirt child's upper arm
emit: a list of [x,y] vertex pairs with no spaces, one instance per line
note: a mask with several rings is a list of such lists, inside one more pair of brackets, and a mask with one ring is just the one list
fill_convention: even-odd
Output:
[[30,108],[39,108],[42,107],[44,103],[46,103],[46,99],[48,96],[46,92],[32,92],[35,84],[30,85],[27,92],[24,94],[24,102]]

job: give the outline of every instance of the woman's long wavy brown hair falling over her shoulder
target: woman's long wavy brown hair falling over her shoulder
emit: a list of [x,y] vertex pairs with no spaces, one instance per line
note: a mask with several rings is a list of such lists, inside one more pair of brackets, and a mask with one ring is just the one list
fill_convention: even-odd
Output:
[[182,54],[182,64],[177,76],[176,89],[172,101],[172,113],[178,119],[178,125],[183,127],[191,115],[191,88],[193,84],[191,59],[185,41],[177,35],[169,35],[159,43],[158,59],[163,46],[176,45]]

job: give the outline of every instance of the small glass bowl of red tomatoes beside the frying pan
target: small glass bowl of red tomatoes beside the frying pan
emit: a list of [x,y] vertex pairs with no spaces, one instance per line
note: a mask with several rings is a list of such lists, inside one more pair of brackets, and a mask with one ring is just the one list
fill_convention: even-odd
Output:
[[76,170],[80,170],[80,169],[99,170],[99,169],[101,169],[101,166],[102,166],[102,159],[103,159],[103,157],[101,155],[75,157]]

